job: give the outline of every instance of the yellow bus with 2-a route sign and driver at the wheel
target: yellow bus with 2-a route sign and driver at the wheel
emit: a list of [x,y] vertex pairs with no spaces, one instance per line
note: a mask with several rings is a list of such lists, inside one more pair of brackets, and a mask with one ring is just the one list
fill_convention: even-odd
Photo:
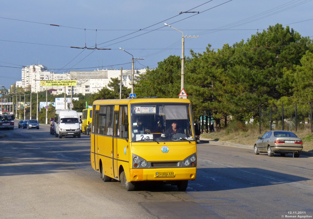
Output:
[[121,181],[127,191],[139,181],[165,181],[185,191],[196,178],[199,130],[192,124],[188,99],[96,100],[91,166],[103,181]]

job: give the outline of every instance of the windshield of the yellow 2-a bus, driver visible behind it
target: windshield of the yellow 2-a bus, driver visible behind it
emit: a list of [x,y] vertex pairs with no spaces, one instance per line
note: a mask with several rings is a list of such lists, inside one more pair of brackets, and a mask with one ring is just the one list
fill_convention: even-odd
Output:
[[190,105],[131,104],[132,141],[194,141]]

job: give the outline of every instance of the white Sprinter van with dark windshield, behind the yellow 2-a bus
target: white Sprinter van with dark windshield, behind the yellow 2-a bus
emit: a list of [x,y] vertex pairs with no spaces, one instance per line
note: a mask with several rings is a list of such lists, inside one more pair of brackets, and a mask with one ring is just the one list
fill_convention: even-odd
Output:
[[55,117],[55,137],[73,135],[80,138],[80,122],[78,114],[75,110],[56,110]]

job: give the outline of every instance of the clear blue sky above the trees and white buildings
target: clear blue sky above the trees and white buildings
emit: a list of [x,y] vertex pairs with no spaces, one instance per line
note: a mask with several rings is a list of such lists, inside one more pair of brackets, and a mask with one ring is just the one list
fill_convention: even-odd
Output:
[[[217,49],[246,41],[276,23],[312,37],[312,9],[312,0],[2,1],[0,85],[9,89],[32,64],[58,73],[131,69],[132,57],[120,47],[145,58],[135,69],[156,68],[169,55],[182,54],[182,33],[164,23],[199,36],[185,38],[185,56],[190,49],[203,53],[208,44]],[[179,14],[187,11],[197,13]],[[111,50],[70,48],[95,43]]]

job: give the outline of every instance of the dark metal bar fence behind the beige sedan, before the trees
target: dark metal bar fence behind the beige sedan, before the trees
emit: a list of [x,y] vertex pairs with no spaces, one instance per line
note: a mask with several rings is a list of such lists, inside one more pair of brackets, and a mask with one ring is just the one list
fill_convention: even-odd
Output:
[[297,132],[298,130],[311,129],[312,122],[312,104],[295,104],[292,108],[284,108],[284,103],[280,107],[261,109],[259,112],[260,134],[263,130],[286,130]]

